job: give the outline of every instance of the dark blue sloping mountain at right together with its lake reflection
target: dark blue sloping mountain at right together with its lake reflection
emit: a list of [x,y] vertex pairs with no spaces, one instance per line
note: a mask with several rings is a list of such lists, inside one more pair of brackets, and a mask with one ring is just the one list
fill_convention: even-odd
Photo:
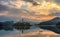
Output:
[[[60,18],[56,17],[52,20],[41,22],[38,24],[38,26],[42,29],[50,30],[57,34],[60,34],[60,29],[58,27],[56,27],[56,23],[58,23],[58,22],[60,22]],[[54,25],[54,26],[52,26],[52,25]]]

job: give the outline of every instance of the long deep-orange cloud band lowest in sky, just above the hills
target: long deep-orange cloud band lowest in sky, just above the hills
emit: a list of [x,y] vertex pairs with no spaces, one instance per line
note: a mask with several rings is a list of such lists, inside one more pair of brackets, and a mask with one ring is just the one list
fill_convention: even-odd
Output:
[[42,16],[42,17],[37,17],[37,16],[21,16],[22,18],[26,18],[29,20],[35,20],[35,21],[47,21],[55,18],[56,16]]

